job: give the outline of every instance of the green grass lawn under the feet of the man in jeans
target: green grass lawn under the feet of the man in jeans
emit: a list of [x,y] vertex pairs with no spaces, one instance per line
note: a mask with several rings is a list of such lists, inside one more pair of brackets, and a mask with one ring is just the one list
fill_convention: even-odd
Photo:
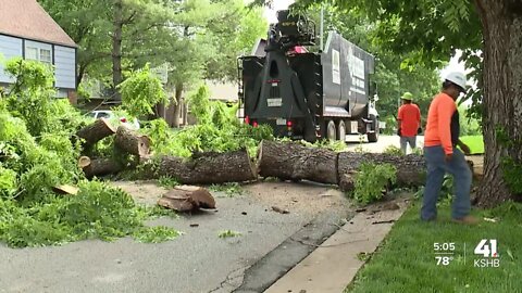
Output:
[[[450,222],[449,205],[438,208],[438,220],[419,220],[415,202],[398,220],[381,247],[358,272],[347,292],[522,292],[522,204],[474,211],[496,218],[469,227]],[[499,267],[474,267],[482,255],[473,251],[482,239],[496,239]],[[453,259],[438,265],[434,243],[455,243]],[[465,258],[464,258],[465,244]],[[489,244],[489,243],[488,243]]]

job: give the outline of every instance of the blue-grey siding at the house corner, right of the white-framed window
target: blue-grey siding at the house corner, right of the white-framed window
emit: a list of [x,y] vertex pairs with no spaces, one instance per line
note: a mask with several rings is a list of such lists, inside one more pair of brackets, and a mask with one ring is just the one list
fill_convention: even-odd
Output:
[[76,50],[54,46],[54,75],[57,88],[76,88]]

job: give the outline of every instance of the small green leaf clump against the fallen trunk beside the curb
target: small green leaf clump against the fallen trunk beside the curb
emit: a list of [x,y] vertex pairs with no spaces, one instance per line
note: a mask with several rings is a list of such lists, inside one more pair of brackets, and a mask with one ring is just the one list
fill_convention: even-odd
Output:
[[397,168],[390,164],[361,164],[356,175],[352,196],[361,204],[381,200],[397,180]]

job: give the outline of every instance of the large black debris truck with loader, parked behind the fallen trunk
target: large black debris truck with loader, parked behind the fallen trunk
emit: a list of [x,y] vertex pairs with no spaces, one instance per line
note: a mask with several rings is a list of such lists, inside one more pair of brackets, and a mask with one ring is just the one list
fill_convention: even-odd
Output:
[[310,142],[345,140],[347,133],[376,141],[378,114],[369,82],[373,55],[333,31],[323,52],[297,53],[296,46],[313,44],[314,28],[288,11],[279,11],[278,21],[265,46],[239,59],[245,123],[268,124],[276,137]]

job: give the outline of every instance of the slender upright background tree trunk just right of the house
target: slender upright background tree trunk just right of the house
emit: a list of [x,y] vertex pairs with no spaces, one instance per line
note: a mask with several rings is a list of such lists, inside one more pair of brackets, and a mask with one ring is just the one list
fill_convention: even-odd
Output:
[[[123,80],[122,77],[122,31],[123,31],[123,1],[114,0],[114,15],[113,15],[113,31],[112,31],[112,84],[114,89]],[[114,99],[120,101],[122,95],[116,89]]]

